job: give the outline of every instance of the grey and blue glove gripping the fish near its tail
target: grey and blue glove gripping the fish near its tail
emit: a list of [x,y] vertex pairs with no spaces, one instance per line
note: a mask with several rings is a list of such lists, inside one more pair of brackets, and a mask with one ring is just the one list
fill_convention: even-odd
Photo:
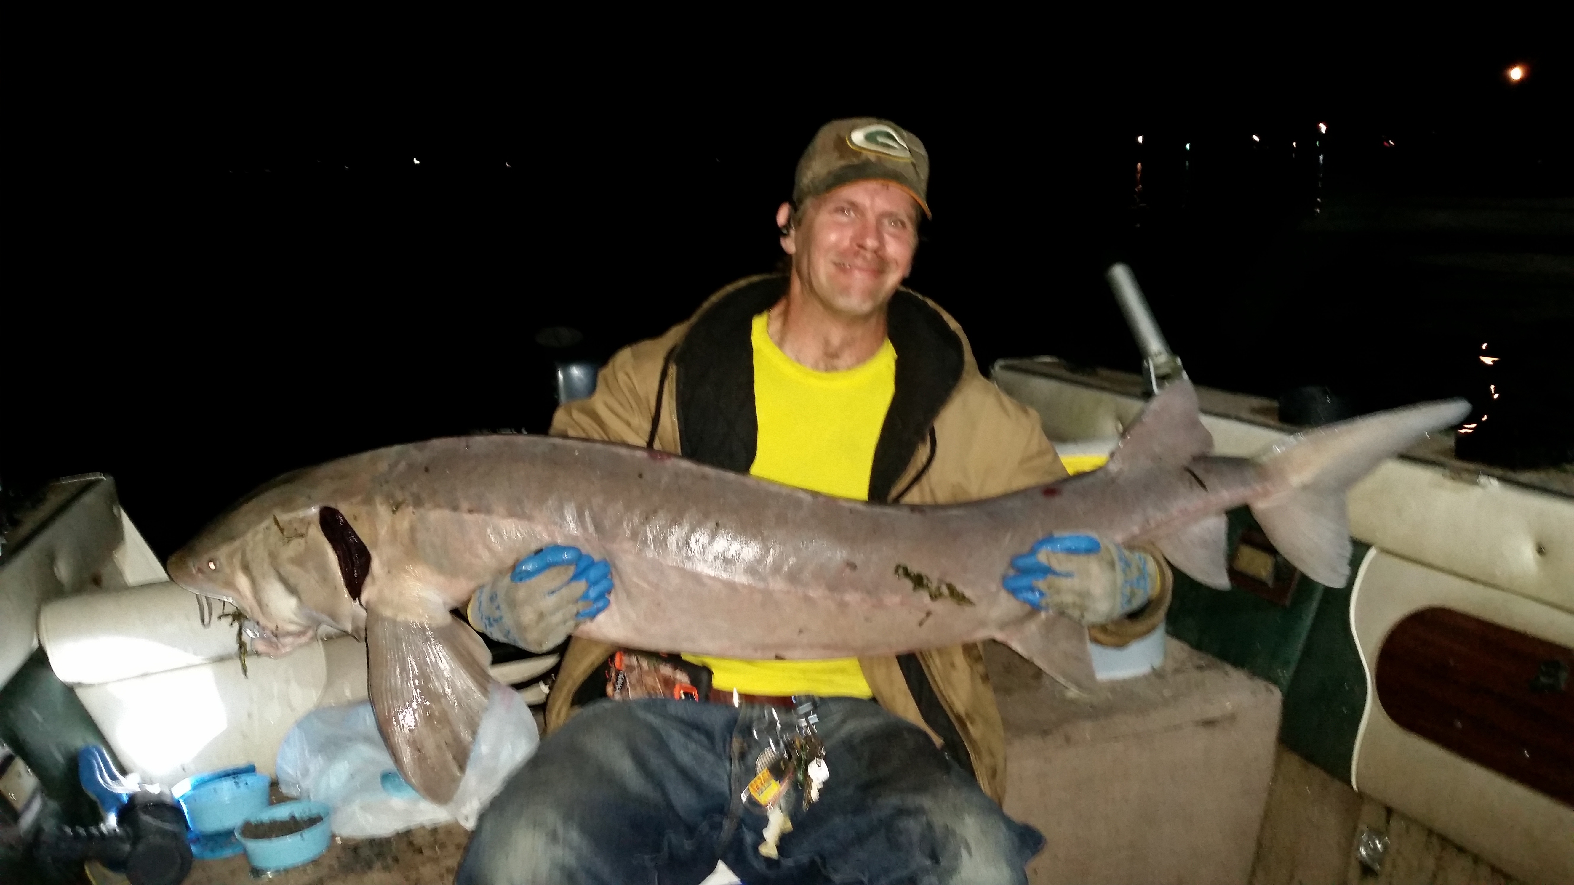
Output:
[[1151,553],[1067,532],[1039,539],[1014,557],[1001,584],[1039,611],[1107,624],[1147,605],[1160,575]]

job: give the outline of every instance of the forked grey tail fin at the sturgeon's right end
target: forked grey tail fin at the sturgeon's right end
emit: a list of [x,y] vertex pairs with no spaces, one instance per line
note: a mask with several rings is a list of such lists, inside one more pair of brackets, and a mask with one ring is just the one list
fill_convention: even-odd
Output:
[[1459,424],[1469,409],[1465,400],[1440,400],[1288,436],[1258,458],[1281,491],[1251,502],[1251,515],[1303,575],[1343,587],[1350,578],[1344,493],[1426,433]]

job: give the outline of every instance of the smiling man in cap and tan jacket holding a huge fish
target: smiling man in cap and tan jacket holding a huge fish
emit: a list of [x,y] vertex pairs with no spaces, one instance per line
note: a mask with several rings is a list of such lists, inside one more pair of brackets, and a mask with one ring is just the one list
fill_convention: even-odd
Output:
[[[822,128],[776,214],[790,272],[740,280],[617,353],[552,433],[867,501],[971,501],[1064,477],[1034,413],[984,380],[955,321],[900,288],[927,181],[922,143],[899,126]],[[1143,551],[1051,535],[1001,575],[1039,608],[1077,594],[1133,611],[1165,572]],[[548,548],[477,592],[472,622],[551,647],[609,605],[615,576],[615,562]],[[609,658],[633,654],[570,642],[549,737],[482,816],[460,882],[696,883],[718,858],[749,885],[1025,882],[1044,838],[998,806],[1004,737],[976,646],[829,661],[688,655],[715,702],[608,701]],[[782,742],[800,734],[804,701],[823,767],[795,791]]]

